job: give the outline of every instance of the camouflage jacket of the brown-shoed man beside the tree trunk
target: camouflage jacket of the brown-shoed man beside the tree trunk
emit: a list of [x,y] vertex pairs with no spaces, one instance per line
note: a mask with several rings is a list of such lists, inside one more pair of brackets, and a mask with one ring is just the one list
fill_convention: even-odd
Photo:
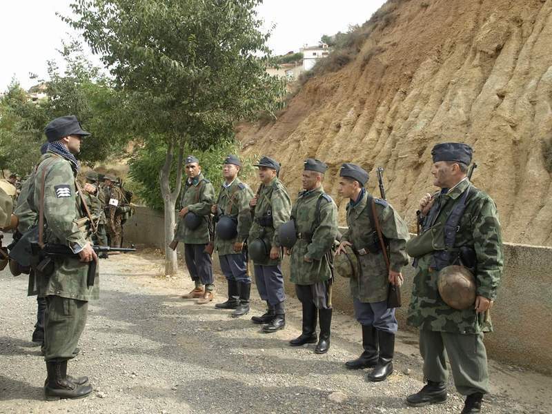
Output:
[[193,183],[188,179],[182,188],[180,208],[188,207],[192,213],[201,216],[201,224],[195,230],[184,226],[184,218],[179,219],[175,237],[186,244],[207,244],[209,242],[209,222],[211,206],[215,203],[213,184],[200,173]]

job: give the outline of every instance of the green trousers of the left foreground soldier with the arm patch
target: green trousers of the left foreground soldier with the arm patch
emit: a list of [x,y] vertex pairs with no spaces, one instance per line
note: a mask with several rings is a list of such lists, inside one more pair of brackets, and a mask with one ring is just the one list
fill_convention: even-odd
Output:
[[75,357],[84,326],[88,302],[55,295],[46,296],[44,317],[44,359],[62,362]]

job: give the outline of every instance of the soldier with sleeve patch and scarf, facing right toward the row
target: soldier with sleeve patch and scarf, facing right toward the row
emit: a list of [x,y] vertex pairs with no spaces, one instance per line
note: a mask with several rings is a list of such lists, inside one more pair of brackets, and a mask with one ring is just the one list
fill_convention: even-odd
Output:
[[92,392],[88,377],[67,375],[67,362],[74,357],[86,324],[88,300],[98,298],[99,286],[97,268],[89,286],[89,264],[97,262],[97,255],[75,223],[89,216],[77,193],[75,177],[80,165],[75,155],[80,152],[81,139],[90,134],[72,115],[54,119],[45,132],[48,152],[41,157],[28,194],[29,207],[39,216],[38,244],[69,246],[78,255],[59,257],[50,270],[37,272],[39,295],[47,302],[44,352],[48,377],[44,391],[47,400],[59,400],[86,397]]

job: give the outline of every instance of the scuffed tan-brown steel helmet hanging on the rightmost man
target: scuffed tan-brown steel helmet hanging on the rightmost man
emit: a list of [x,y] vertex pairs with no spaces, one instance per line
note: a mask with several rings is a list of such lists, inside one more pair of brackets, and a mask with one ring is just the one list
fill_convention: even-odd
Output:
[[443,268],[437,275],[437,289],[443,302],[459,311],[475,303],[475,278],[464,266]]

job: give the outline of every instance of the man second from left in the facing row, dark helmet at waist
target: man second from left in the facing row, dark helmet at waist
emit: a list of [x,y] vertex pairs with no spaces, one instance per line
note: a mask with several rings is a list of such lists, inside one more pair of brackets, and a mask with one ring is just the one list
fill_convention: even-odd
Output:
[[251,227],[249,201],[253,191],[238,178],[242,162],[235,155],[224,159],[222,175],[224,184],[217,204],[211,213],[217,217],[215,249],[219,253],[220,268],[228,281],[228,300],[215,304],[218,309],[234,309],[233,317],[249,313],[251,277],[248,275],[244,242]]

